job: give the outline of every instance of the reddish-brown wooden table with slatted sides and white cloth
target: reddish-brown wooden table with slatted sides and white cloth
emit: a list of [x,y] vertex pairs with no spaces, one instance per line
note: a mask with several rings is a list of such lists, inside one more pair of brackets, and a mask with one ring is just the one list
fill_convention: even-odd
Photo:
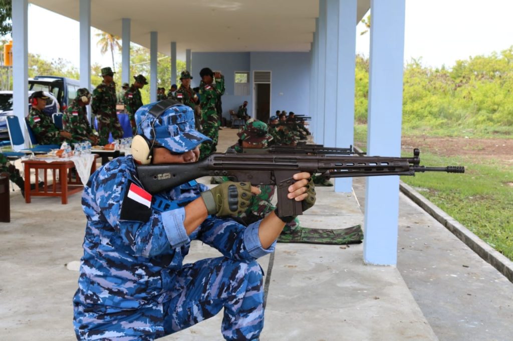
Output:
[[[96,159],[91,166],[91,174],[96,171]],[[30,203],[30,197],[61,197],[63,205],[68,203],[68,196],[80,192],[84,189],[80,177],[76,173],[73,161],[52,161],[45,160],[23,160],[25,164],[25,202]],[[36,174],[35,188],[30,189],[30,171],[34,169]],[[44,170],[44,185],[40,186],[37,179],[37,173],[40,169]],[[48,169],[52,171],[52,183],[48,184]]]

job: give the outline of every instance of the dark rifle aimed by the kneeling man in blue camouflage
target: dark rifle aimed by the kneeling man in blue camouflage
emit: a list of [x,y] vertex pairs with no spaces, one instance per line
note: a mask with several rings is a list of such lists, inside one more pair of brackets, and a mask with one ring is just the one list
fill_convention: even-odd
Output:
[[425,167],[420,165],[420,151],[412,158],[382,156],[329,156],[292,154],[215,153],[202,161],[137,165],[137,177],[151,194],[171,189],[204,176],[232,176],[252,185],[278,187],[279,215],[303,213],[301,201],[288,199],[292,176],[300,172],[321,174],[327,178],[415,175],[416,172],[464,173],[463,166]]

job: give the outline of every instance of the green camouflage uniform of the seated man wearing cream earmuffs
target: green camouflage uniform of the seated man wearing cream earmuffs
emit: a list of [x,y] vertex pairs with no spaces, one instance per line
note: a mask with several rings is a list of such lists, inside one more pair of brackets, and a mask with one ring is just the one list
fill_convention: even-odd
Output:
[[76,96],[63,115],[64,131],[71,134],[73,141],[89,141],[93,130],[87,120],[85,106],[80,105],[81,96]]

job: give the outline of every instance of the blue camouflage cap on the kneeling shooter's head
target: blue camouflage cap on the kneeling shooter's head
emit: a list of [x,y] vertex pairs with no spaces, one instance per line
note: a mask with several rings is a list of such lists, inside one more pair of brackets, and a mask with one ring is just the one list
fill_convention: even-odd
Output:
[[194,111],[189,106],[173,105],[155,118],[149,114],[155,103],[143,105],[135,112],[137,134],[155,140],[174,153],[185,153],[205,141],[212,141],[194,129]]

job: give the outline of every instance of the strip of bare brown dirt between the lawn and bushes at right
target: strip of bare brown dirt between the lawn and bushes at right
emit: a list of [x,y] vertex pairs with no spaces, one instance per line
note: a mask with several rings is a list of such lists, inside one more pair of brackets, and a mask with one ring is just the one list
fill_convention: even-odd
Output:
[[[513,166],[513,139],[477,139],[464,137],[403,137],[403,150],[420,148],[440,156],[463,156],[472,162],[496,160]],[[421,153],[422,156],[422,153]]]

